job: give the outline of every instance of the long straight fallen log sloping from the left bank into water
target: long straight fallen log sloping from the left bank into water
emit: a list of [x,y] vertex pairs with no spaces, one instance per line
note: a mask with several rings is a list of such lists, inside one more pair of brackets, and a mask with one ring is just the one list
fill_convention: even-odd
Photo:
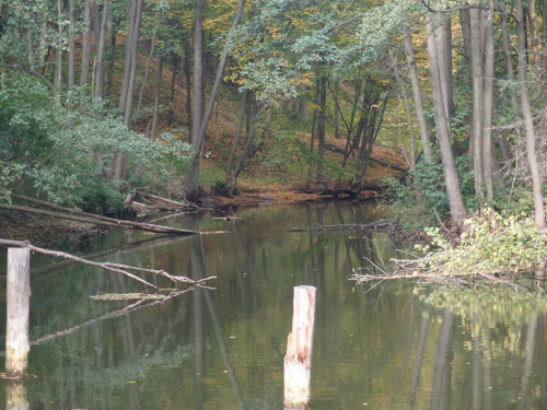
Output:
[[[57,206],[55,206],[55,207],[57,207]],[[178,227],[162,226],[162,225],[152,225],[150,223],[133,222],[133,221],[123,221],[123,220],[116,220],[114,218],[97,216],[97,215],[94,215],[94,214],[91,214],[91,213],[85,213],[85,212],[74,211],[74,210],[71,210],[70,214],[65,214],[65,213],[60,213],[60,212],[54,212],[54,211],[47,211],[47,210],[44,210],[44,209],[30,208],[30,207],[21,207],[21,206],[0,204],[0,208],[8,209],[10,211],[20,211],[20,212],[27,212],[27,213],[36,213],[36,214],[39,214],[39,215],[60,218],[60,219],[66,219],[66,220],[71,220],[71,221],[78,221],[78,222],[86,222],[86,223],[92,223],[92,224],[95,224],[95,225],[130,227],[130,229],[135,229],[135,230],[154,232],[154,233],[160,233],[160,234],[196,235],[196,234],[199,233],[197,231],[181,230]]]

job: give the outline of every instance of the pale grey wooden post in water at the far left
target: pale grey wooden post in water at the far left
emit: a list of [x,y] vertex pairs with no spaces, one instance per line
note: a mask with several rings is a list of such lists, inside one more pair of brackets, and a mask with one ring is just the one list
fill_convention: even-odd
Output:
[[8,378],[24,378],[30,350],[31,249],[8,249],[7,288],[5,376]]

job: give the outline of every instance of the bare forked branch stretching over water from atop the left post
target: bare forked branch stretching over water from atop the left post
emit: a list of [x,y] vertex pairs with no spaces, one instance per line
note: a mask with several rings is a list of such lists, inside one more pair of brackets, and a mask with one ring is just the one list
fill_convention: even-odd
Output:
[[193,284],[193,285],[198,285],[201,282],[205,282],[205,281],[207,281],[209,279],[216,279],[217,278],[217,277],[209,277],[209,278],[205,278],[205,279],[200,279],[200,280],[195,281],[195,280],[186,278],[186,277],[176,277],[176,276],[170,274],[170,273],[165,272],[162,269],[144,269],[144,268],[138,268],[138,267],[133,267],[133,266],[129,266],[129,265],[121,265],[121,263],[95,262],[95,261],[83,259],[83,258],[80,258],[78,256],[74,256],[74,255],[71,255],[71,254],[67,254],[67,253],[63,253],[63,251],[60,251],[60,250],[51,250],[51,249],[39,248],[37,246],[31,245],[31,243],[28,241],[23,241],[22,242],[22,241],[0,239],[0,245],[30,248],[31,250],[37,251],[39,254],[51,255],[51,256],[56,256],[56,257],[60,257],[60,258],[65,258],[65,259],[70,259],[70,260],[74,260],[77,262],[81,262],[81,263],[85,263],[85,265],[91,265],[91,266],[94,266],[94,267],[97,267],[97,268],[103,268],[103,269],[106,269],[106,270],[110,270],[113,272],[118,272],[118,273],[125,274],[126,277],[135,279],[136,281],[141,282],[141,283],[146,284],[147,286],[153,288],[156,291],[159,289],[156,286],[154,286],[152,283],[147,282],[144,279],[139,278],[139,277],[130,273],[128,270],[135,270],[135,271],[139,271],[139,272],[154,273],[154,274],[159,274],[159,276],[165,277],[165,278],[170,279],[171,281],[173,281],[173,282],[185,282],[185,283],[189,283],[189,284]]

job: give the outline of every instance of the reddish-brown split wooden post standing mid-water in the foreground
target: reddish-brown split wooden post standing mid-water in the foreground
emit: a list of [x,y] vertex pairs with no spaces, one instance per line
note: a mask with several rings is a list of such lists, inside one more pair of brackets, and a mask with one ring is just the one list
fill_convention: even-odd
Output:
[[284,356],[284,407],[288,409],[307,408],[310,402],[315,293],[314,286],[294,288],[292,331]]

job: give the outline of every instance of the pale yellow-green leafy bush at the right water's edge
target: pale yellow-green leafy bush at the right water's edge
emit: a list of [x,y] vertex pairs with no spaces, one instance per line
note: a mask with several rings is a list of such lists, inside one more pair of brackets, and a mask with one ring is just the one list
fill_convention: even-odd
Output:
[[482,216],[465,221],[467,230],[458,246],[450,246],[439,229],[430,230],[428,234],[442,250],[420,247],[429,251],[420,263],[446,276],[535,269],[547,260],[547,236],[522,216],[486,209]]

